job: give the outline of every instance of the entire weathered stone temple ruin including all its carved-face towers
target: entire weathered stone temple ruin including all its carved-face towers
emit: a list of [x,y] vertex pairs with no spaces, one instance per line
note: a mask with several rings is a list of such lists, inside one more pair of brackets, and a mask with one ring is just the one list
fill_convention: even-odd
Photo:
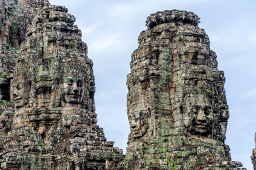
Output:
[[0,0],[0,14],[0,169],[245,169],[225,144],[225,77],[196,14],[146,19],[127,76],[125,155],[97,125],[75,16],[48,0]]

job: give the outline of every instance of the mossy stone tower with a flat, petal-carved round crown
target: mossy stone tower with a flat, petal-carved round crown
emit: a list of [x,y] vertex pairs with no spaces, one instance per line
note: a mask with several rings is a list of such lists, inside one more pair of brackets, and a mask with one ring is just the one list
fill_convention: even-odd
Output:
[[127,76],[126,169],[244,169],[225,145],[225,77],[198,23],[178,10],[146,19]]

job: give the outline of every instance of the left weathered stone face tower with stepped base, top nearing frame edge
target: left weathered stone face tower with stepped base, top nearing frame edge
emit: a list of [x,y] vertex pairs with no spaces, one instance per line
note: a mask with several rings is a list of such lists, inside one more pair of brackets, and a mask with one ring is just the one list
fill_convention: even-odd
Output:
[[92,60],[75,17],[48,1],[18,3],[31,20],[7,77],[15,109],[0,110],[1,169],[119,169],[122,149],[97,125]]

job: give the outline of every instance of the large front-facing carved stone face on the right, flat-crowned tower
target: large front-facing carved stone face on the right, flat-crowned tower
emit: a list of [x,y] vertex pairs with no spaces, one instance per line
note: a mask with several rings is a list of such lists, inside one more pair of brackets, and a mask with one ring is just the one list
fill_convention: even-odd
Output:
[[210,135],[213,110],[209,96],[195,94],[185,97],[185,127],[192,135]]

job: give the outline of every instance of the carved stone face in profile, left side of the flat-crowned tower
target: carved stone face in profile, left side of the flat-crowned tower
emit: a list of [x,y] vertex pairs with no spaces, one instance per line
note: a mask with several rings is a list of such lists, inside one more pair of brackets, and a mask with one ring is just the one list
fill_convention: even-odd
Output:
[[139,111],[129,115],[131,133],[134,138],[142,137],[149,129],[149,115],[147,111]]

